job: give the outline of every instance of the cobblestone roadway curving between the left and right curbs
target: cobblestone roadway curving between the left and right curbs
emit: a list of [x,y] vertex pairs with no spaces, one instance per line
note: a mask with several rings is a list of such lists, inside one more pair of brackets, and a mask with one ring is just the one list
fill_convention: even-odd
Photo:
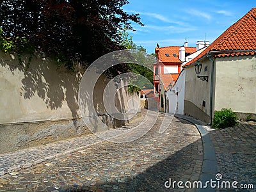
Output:
[[[152,115],[156,115],[154,113]],[[129,143],[99,141],[72,154],[61,152],[62,156],[2,175],[0,191],[172,191],[164,188],[164,182],[170,178],[184,182],[198,180],[203,159],[198,130],[186,120],[173,118],[172,124],[161,134],[159,126],[163,116],[159,115],[152,129],[138,140]],[[148,116],[145,127],[152,126],[151,118]],[[79,148],[76,141],[68,140],[70,145]],[[70,145],[68,150],[72,152]],[[47,147],[48,153],[49,148],[53,148],[54,156],[61,144],[58,142],[56,147],[56,143],[52,143]],[[36,148],[31,158],[35,152]],[[42,148],[38,152],[44,154]],[[19,153],[16,158],[22,159]]]

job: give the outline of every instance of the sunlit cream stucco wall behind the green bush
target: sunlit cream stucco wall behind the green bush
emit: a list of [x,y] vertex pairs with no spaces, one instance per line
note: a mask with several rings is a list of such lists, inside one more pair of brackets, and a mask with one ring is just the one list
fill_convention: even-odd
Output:
[[214,110],[256,113],[256,56],[216,58]]

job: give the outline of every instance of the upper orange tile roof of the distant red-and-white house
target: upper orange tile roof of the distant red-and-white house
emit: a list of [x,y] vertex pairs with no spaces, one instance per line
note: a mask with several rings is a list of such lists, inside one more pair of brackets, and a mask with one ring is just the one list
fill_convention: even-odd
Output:
[[[181,63],[179,60],[179,46],[156,47],[157,58],[163,63]],[[196,52],[196,47],[185,47],[185,52]],[[169,54],[166,56],[165,54]],[[173,56],[176,54],[176,56]]]

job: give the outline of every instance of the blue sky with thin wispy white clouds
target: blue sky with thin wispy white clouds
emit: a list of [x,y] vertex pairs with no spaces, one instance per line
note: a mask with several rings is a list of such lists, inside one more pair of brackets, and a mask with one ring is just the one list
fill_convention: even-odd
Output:
[[[196,41],[212,43],[229,26],[256,7],[254,0],[129,0],[123,6],[127,13],[140,13],[145,26],[132,24],[135,32],[128,31],[137,45],[148,53],[160,47],[183,45],[185,38],[189,47]],[[206,34],[206,35],[205,35]]]

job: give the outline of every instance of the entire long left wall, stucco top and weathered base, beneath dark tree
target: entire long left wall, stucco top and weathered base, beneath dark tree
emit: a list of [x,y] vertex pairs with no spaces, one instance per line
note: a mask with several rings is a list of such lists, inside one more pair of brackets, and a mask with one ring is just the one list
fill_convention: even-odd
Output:
[[[22,58],[24,63],[28,61],[28,57]],[[0,154],[91,134],[77,104],[84,71],[79,65],[73,72],[65,67],[57,68],[54,61],[39,54],[26,70],[17,56],[0,52]],[[100,77],[94,87],[93,103],[87,107],[94,108],[100,121],[115,128],[129,120],[113,118],[114,110],[107,111],[102,104],[102,94],[109,81],[106,76]],[[113,108],[136,118],[140,110],[129,113],[130,99],[140,104],[139,95],[129,95],[127,87],[121,88],[115,95]]]

